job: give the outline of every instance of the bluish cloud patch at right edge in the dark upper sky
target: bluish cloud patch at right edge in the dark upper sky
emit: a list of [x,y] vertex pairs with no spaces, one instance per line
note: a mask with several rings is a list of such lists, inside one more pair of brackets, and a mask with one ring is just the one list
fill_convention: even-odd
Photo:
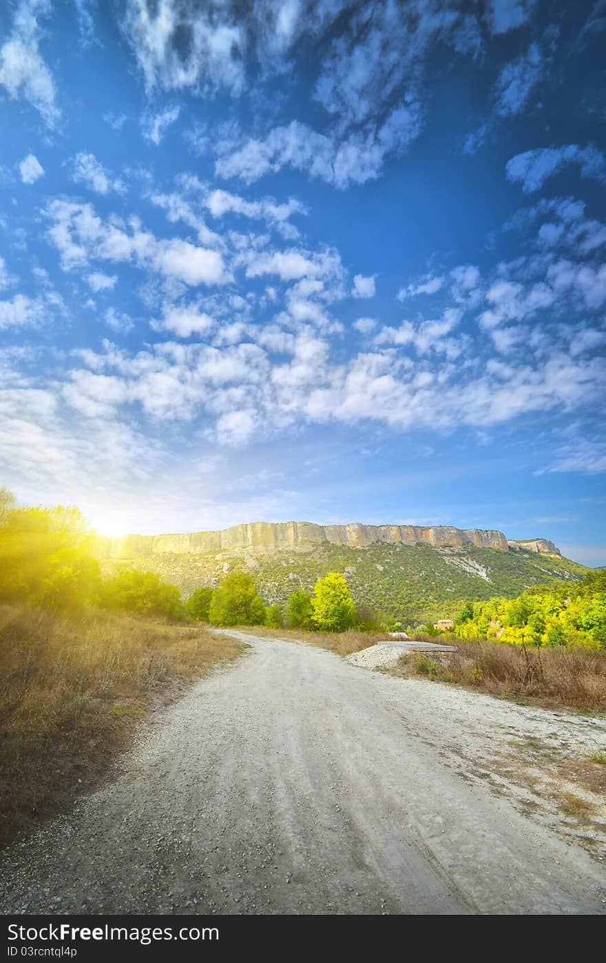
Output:
[[566,165],[578,165],[582,177],[606,182],[606,158],[589,144],[580,147],[569,143],[564,147],[540,147],[516,154],[507,162],[507,177],[521,183],[525,194],[538,191],[544,182]]

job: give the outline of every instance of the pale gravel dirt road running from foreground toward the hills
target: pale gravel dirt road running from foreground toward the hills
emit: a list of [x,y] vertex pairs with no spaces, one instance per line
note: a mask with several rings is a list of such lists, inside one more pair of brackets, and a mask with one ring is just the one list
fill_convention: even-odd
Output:
[[455,713],[446,687],[240,638],[247,655],[159,712],[116,782],[6,853],[1,911],[606,912],[604,867],[449,751],[454,726],[489,740],[485,705],[513,728],[540,710],[459,690]]

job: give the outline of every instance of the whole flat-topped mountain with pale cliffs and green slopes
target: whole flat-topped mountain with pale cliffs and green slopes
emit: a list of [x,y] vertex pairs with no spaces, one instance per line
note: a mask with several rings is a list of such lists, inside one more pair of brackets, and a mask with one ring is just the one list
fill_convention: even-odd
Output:
[[311,590],[327,572],[343,572],[356,602],[407,624],[454,614],[468,598],[514,597],[587,571],[548,539],[445,526],[254,522],[221,532],[100,538],[98,554],[107,571],[152,570],[186,595],[243,568],[266,602],[280,605],[295,588]]

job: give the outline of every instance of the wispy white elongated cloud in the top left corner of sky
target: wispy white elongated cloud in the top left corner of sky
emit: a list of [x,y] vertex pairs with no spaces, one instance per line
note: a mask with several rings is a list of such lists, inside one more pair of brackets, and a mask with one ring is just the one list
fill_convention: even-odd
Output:
[[55,84],[40,54],[38,16],[50,11],[48,0],[21,0],[13,17],[13,29],[0,47],[0,85],[13,99],[23,97],[53,127],[60,117],[55,103]]

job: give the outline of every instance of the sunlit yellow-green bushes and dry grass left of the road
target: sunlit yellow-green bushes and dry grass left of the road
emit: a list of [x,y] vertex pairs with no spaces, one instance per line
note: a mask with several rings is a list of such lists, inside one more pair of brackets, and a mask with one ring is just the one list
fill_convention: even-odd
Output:
[[0,489],[0,844],[73,802],[154,705],[243,649],[153,573],[101,579],[76,509],[15,508]]

